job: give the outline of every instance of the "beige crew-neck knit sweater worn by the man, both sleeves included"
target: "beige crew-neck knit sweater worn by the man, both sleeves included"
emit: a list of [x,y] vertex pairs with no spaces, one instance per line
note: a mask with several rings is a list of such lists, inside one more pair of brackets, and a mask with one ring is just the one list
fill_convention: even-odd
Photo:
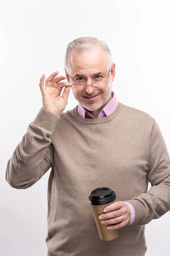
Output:
[[[95,119],[84,119],[76,107],[61,116],[40,108],[8,160],[6,180],[27,189],[50,167],[48,255],[145,255],[144,225],[170,210],[170,156],[153,117],[120,102]],[[102,186],[135,209],[133,224],[111,241],[100,240],[88,202]]]

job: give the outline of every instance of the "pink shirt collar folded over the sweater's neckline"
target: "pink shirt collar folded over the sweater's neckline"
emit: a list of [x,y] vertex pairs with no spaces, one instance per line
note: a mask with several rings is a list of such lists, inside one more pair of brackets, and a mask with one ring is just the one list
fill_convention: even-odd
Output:
[[[113,111],[115,111],[115,109],[117,108],[118,103],[119,103],[116,98],[116,95],[113,91],[111,92],[111,96],[112,96],[111,101],[108,102],[108,104],[101,111],[101,112],[105,112],[106,116],[110,115]],[[83,106],[80,103],[78,103],[77,111],[84,118],[86,116],[86,112],[88,112],[88,110],[83,108]],[[100,115],[100,113],[99,113],[99,115]],[[92,118],[94,118],[94,116],[92,116],[91,113],[89,113],[89,112],[88,112],[88,116],[91,116]]]

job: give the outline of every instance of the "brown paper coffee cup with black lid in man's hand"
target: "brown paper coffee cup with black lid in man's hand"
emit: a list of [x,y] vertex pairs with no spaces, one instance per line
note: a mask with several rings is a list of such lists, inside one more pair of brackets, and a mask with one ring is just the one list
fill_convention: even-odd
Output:
[[88,197],[91,204],[92,212],[96,222],[99,237],[102,241],[111,241],[118,236],[117,230],[108,230],[107,224],[102,224],[99,220],[99,215],[103,212],[103,209],[109,204],[116,202],[116,194],[108,187],[100,187],[91,191],[91,195]]

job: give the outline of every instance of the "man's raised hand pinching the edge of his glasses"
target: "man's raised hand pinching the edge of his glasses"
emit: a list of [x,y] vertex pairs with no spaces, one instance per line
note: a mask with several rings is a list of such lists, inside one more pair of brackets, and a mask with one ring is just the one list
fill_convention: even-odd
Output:
[[[68,82],[59,83],[60,81],[66,79],[66,76],[57,76],[58,73],[59,72],[56,71],[48,76],[48,78],[45,80],[45,84],[45,74],[43,74],[40,78],[39,85],[42,93],[43,107],[50,112],[60,115],[65,110],[67,105],[71,84]],[[61,96],[60,94],[63,87],[65,88]]]

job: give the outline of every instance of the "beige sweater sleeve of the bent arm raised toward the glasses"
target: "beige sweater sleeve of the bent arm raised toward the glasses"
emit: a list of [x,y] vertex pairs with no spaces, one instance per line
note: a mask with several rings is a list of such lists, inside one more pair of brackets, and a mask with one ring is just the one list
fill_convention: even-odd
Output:
[[40,108],[8,160],[6,181],[10,186],[27,189],[53,168],[54,146],[51,135],[59,119],[59,116]]

